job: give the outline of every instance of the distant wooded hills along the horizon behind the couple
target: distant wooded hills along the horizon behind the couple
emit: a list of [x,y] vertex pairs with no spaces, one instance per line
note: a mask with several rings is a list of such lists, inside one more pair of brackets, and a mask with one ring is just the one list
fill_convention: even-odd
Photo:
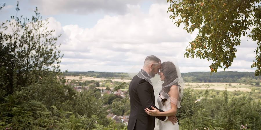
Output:
[[[82,75],[88,77],[107,78],[107,79],[131,79],[128,73],[116,73],[116,72],[64,72],[66,76],[69,75]],[[182,77],[185,82],[226,82],[226,83],[244,83],[251,84],[260,80],[260,77],[255,77],[254,72],[235,72],[235,71],[222,71],[217,73],[210,72],[189,72],[182,73]]]

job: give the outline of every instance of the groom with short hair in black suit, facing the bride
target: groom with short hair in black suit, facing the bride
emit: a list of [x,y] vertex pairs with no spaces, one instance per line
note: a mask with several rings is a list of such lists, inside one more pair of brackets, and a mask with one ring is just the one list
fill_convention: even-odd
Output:
[[[150,79],[159,73],[161,66],[160,59],[154,55],[147,56],[142,70],[131,80],[129,86],[131,114],[128,122],[128,130],[153,130],[155,127],[155,117],[162,120],[170,120],[173,124],[177,122],[176,116],[150,116],[145,112],[145,108],[158,109],[155,106],[153,86]],[[164,112],[158,109],[160,112]]]

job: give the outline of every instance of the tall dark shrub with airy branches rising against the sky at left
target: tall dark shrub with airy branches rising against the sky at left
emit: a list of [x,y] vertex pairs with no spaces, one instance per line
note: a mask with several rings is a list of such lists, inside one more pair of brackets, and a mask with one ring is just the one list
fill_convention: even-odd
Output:
[[6,94],[60,71],[62,56],[53,36],[55,30],[48,30],[48,21],[41,18],[36,8],[31,19],[23,18],[22,22],[22,17],[11,16],[0,25],[0,90]]

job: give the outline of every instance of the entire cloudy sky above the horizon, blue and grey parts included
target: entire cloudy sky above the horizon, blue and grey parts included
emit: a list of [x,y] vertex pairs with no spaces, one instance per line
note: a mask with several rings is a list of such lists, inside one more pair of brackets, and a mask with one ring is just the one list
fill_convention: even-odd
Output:
[[[0,0],[0,22],[16,16],[16,0]],[[181,73],[210,71],[211,61],[187,59],[192,34],[177,27],[166,0],[19,0],[18,16],[31,18],[38,8],[55,29],[64,54],[61,71],[128,72],[148,55],[178,63]],[[225,71],[254,72],[256,42],[241,37],[236,58]],[[136,67],[137,68],[137,67]],[[222,68],[218,71],[223,71]]]

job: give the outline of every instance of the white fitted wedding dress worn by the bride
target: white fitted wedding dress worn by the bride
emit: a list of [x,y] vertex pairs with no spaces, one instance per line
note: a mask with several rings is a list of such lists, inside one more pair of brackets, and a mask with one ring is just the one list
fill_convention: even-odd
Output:
[[[161,98],[161,95],[158,97],[157,99],[157,103],[159,106],[159,109],[163,110],[163,111],[168,111],[169,109],[171,109],[171,102],[169,100],[164,102],[164,105],[161,103],[163,96]],[[159,119],[156,118],[156,125],[155,125],[155,129],[154,130],[179,130],[179,123],[175,123],[175,125],[173,125],[171,123],[171,121],[166,120],[166,121],[161,121]]]

